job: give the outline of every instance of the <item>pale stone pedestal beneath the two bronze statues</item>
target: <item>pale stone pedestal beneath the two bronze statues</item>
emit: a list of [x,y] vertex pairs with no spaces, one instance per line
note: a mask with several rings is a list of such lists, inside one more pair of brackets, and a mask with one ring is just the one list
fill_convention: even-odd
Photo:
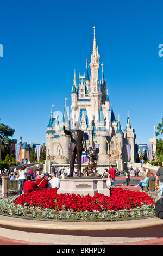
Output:
[[106,187],[106,179],[97,177],[70,177],[60,180],[60,188],[58,194],[80,194],[95,196],[100,193],[110,196],[110,190]]

